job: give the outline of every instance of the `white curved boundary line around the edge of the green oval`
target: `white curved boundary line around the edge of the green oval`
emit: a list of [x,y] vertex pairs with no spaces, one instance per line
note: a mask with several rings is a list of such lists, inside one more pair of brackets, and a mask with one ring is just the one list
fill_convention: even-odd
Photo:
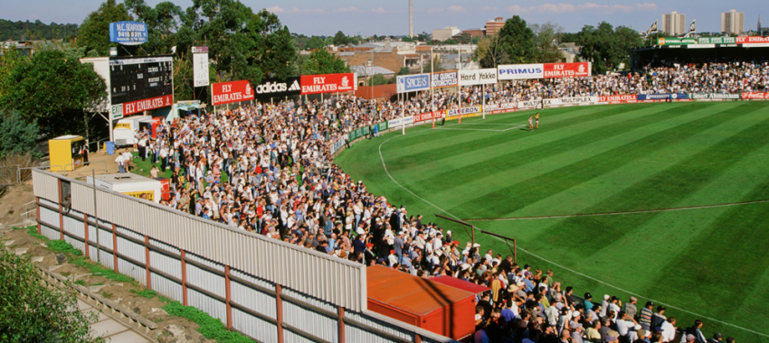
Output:
[[[429,131],[430,131],[430,130],[422,130],[422,131],[420,131],[420,132],[416,132],[416,133],[414,133],[414,134],[419,134],[419,133],[422,133],[422,132],[429,132]],[[445,213],[445,214],[449,215],[449,217],[451,217],[451,218],[455,218],[455,219],[461,220],[461,218],[459,218],[459,217],[457,217],[457,216],[454,216],[454,215],[452,215],[451,213],[449,213],[449,212],[448,212],[448,211],[446,211],[445,209],[441,209],[440,207],[436,206],[435,204],[433,204],[432,202],[430,202],[430,201],[428,201],[428,200],[426,200],[426,199],[422,199],[422,197],[420,197],[420,196],[416,195],[416,194],[415,194],[413,191],[411,191],[411,190],[409,190],[409,189],[407,189],[407,188],[403,187],[403,185],[401,185],[401,184],[400,184],[398,181],[395,181],[395,179],[394,179],[393,175],[391,175],[391,174],[390,174],[390,172],[389,172],[389,171],[387,171],[387,165],[385,164],[385,156],[383,156],[383,155],[382,155],[382,145],[385,145],[385,143],[387,143],[387,142],[390,142],[390,141],[391,141],[393,138],[395,138],[395,137],[399,137],[399,136],[401,136],[401,135],[403,135],[403,134],[394,135],[393,137],[390,137],[390,138],[388,138],[387,140],[385,140],[385,142],[382,142],[382,144],[379,144],[379,159],[382,161],[382,167],[385,169],[385,173],[387,174],[387,176],[388,176],[388,177],[390,177],[390,180],[392,180],[392,181],[393,181],[393,182],[394,182],[396,185],[398,185],[398,187],[400,187],[401,189],[403,189],[403,190],[405,190],[405,191],[409,192],[409,194],[413,195],[413,197],[414,197],[414,198],[422,200],[422,202],[424,202],[424,203],[426,203],[426,204],[428,204],[428,205],[432,206],[432,207],[433,207],[433,208],[435,208],[435,209],[438,209],[438,210],[440,210],[441,212],[443,212],[443,213]],[[479,228],[479,227],[478,227],[478,228]],[[479,228],[479,229],[480,229],[480,228]],[[493,238],[495,238],[495,239],[497,239],[497,240],[498,240],[498,241],[500,241],[500,242],[504,242],[502,239],[500,239],[500,238],[498,238],[498,237],[496,237],[496,236],[492,236],[492,237],[493,237]],[[584,274],[584,273],[579,273],[579,272],[575,271],[574,269],[571,269],[571,268],[565,267],[565,266],[563,266],[563,265],[561,265],[561,264],[556,264],[555,262],[553,262],[553,261],[550,261],[550,260],[546,259],[545,257],[539,256],[539,255],[535,255],[534,253],[532,253],[532,252],[530,252],[530,251],[528,251],[528,250],[526,250],[526,249],[522,248],[521,246],[517,246],[517,248],[518,248],[518,249],[520,249],[521,251],[523,251],[524,253],[527,253],[528,255],[531,255],[531,256],[533,256],[533,257],[536,257],[536,258],[538,258],[538,259],[540,259],[540,260],[542,260],[542,261],[545,261],[545,262],[546,262],[546,263],[548,263],[548,264],[553,264],[553,265],[555,265],[555,266],[557,266],[557,267],[559,267],[559,268],[561,268],[561,269],[563,269],[563,270],[565,270],[565,271],[568,271],[568,272],[571,272],[571,273],[574,273],[574,274],[580,275],[580,276],[584,277],[585,279],[588,279],[588,280],[592,280],[592,281],[594,281],[594,282],[596,282],[596,283],[601,283],[601,284],[603,284],[603,285],[605,285],[605,286],[611,287],[611,288],[613,288],[613,289],[615,289],[615,290],[618,290],[618,291],[620,291],[620,292],[625,292],[625,293],[627,293],[627,294],[630,294],[630,295],[632,295],[632,296],[635,296],[635,297],[638,297],[638,298],[648,299],[649,301],[653,301],[653,302],[655,302],[655,303],[658,303],[658,304],[661,304],[661,305],[665,305],[665,307],[668,307],[669,309],[673,309],[673,310],[677,310],[677,311],[686,312],[686,313],[688,313],[688,314],[691,314],[691,315],[694,315],[694,316],[697,316],[697,317],[700,317],[700,318],[703,318],[703,319],[706,319],[706,320],[712,320],[712,321],[714,321],[714,322],[717,322],[717,323],[720,323],[720,324],[724,324],[724,325],[730,326],[730,327],[732,327],[732,328],[741,329],[741,330],[744,330],[745,332],[750,332],[750,333],[753,333],[753,334],[755,334],[755,335],[759,335],[759,336],[762,336],[762,337],[766,337],[766,338],[769,338],[769,335],[767,335],[767,334],[764,334],[764,333],[761,333],[761,332],[758,332],[758,331],[755,331],[755,330],[752,330],[752,329],[746,329],[746,328],[743,328],[743,327],[737,326],[737,325],[735,325],[735,324],[730,324],[730,323],[727,323],[726,321],[722,321],[722,320],[716,320],[716,319],[713,319],[713,318],[709,318],[709,317],[703,316],[703,315],[701,315],[701,314],[698,314],[698,313],[695,313],[695,312],[692,312],[692,311],[687,311],[687,310],[681,309],[681,308],[679,308],[679,307],[676,307],[676,306],[670,305],[670,304],[668,304],[668,303],[665,303],[665,302],[662,302],[662,301],[656,301],[656,300],[654,300],[654,299],[651,299],[650,297],[646,297],[646,296],[643,296],[643,295],[641,295],[641,294],[638,294],[638,293],[634,293],[634,292],[630,292],[630,291],[624,290],[624,289],[622,289],[622,288],[620,288],[620,287],[617,287],[617,286],[615,286],[615,285],[613,285],[613,284],[611,284],[611,283],[606,283],[606,282],[603,282],[602,280],[596,279],[596,278],[594,278],[593,276],[590,276],[590,275],[586,275],[586,274]]]

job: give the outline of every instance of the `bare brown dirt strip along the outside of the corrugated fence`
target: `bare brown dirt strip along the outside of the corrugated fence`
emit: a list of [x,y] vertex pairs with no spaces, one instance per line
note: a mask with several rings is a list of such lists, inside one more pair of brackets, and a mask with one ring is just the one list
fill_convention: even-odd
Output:
[[[97,168],[99,167],[97,166]],[[103,172],[104,170],[101,169],[101,173]],[[70,176],[70,173],[68,173],[68,176]],[[6,194],[0,198],[0,209],[2,209],[0,220],[4,224],[4,226],[0,226],[0,241],[4,242],[0,246],[16,253],[19,253],[16,249],[26,248],[27,251],[23,254],[29,255],[33,258],[33,261],[43,257],[42,261],[34,262],[43,267],[43,269],[61,274],[73,283],[90,286],[91,292],[96,292],[112,301],[118,301],[123,306],[148,320],[155,321],[157,329],[151,330],[147,334],[151,338],[156,338],[160,342],[214,342],[213,340],[205,339],[203,335],[196,331],[199,326],[195,322],[168,316],[166,311],[161,310],[166,305],[166,302],[160,301],[158,296],[152,299],[138,296],[137,292],[146,289],[139,283],[117,283],[103,276],[91,275],[88,269],[70,263],[73,256],[68,256],[67,262],[58,264],[56,253],[50,250],[43,240],[30,236],[25,229],[11,229],[9,225],[22,222],[20,214],[24,212],[24,203],[33,200],[34,195],[31,182],[9,188]],[[34,214],[32,218],[34,218]]]

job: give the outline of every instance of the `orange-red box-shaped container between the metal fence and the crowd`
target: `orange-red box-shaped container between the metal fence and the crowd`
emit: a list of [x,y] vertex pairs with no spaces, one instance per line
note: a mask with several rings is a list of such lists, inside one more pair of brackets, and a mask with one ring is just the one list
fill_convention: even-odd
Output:
[[460,340],[475,331],[475,294],[398,272],[366,269],[368,310]]

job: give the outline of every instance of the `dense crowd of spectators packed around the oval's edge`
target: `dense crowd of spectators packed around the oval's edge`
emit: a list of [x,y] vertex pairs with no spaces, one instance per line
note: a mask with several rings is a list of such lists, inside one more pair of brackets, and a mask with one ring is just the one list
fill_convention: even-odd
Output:
[[[492,292],[479,299],[476,341],[671,342],[669,328],[676,322],[665,319],[664,308],[650,314],[649,302],[637,309],[631,298],[622,307],[609,296],[593,303],[589,293],[585,301],[575,301],[571,287],[562,290],[551,272],[520,268],[510,256],[484,254],[478,245],[461,246],[451,231],[423,222],[403,204],[392,204],[369,192],[363,181],[354,181],[333,163],[330,146],[356,128],[370,127],[369,138],[374,138],[376,123],[455,108],[459,102],[476,105],[483,97],[494,104],[764,91],[769,89],[766,62],[673,63],[645,73],[512,81],[485,88],[485,93],[481,89],[462,88],[459,97],[447,89],[436,90],[432,98],[423,92],[403,102],[338,97],[220,109],[160,125],[154,139],[147,129],[138,132],[135,158],[172,171],[171,197],[161,201],[167,207],[361,264],[384,264],[421,277],[451,275],[488,286]],[[119,165],[128,167],[131,158],[120,155]],[[153,168],[152,176],[157,172]],[[698,328],[684,338],[689,334],[705,342]]]

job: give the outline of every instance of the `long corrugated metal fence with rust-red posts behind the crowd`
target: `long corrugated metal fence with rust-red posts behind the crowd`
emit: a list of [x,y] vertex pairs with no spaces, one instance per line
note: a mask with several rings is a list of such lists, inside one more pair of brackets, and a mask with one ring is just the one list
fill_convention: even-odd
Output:
[[93,188],[51,172],[33,170],[33,185],[41,234],[257,341],[452,342],[367,311],[362,264],[110,190],[96,190],[94,213]]

